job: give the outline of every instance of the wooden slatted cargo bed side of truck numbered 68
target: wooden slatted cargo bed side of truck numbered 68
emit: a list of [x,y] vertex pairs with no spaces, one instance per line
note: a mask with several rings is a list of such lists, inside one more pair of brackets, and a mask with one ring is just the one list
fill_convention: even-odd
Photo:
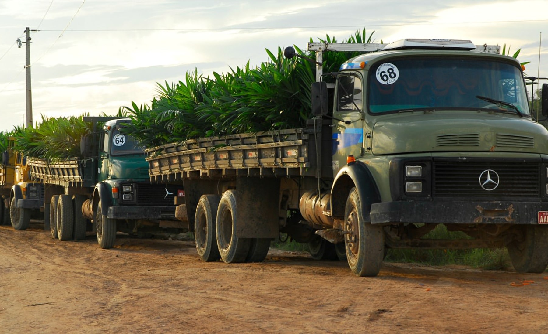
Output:
[[314,176],[314,134],[306,128],[189,139],[146,150],[151,181],[199,177]]

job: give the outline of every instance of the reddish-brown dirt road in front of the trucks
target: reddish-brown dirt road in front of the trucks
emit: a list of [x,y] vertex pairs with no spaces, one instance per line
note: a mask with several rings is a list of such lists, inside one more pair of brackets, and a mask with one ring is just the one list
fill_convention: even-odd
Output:
[[548,273],[391,263],[359,278],[306,254],[204,263],[192,241],[102,250],[7,226],[0,252],[3,333],[548,332]]

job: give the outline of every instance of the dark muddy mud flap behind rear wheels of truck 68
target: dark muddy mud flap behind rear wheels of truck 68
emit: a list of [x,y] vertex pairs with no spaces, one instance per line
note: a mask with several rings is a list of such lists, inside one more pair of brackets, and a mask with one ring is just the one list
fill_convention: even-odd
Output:
[[236,179],[236,235],[276,238],[279,231],[279,179]]

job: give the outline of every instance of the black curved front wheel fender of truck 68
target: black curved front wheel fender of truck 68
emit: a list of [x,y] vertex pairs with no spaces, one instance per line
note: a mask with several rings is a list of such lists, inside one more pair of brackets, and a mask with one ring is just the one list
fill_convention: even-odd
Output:
[[344,216],[346,200],[352,187],[358,190],[364,221],[371,221],[369,216],[371,204],[380,202],[380,193],[369,168],[361,161],[349,163],[335,176],[331,187],[332,216],[334,218]]

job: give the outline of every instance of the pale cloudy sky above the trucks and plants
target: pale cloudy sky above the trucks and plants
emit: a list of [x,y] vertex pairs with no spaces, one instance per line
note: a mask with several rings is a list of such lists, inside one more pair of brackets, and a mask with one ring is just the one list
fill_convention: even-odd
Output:
[[[148,103],[156,83],[187,71],[227,72],[265,49],[310,37],[345,39],[356,30],[376,42],[402,38],[470,39],[510,45],[548,77],[548,1],[390,0],[0,0],[0,131],[25,121],[25,27],[31,33],[33,119],[115,114]],[[544,31],[543,31],[544,28]],[[542,33],[542,35],[541,35]],[[542,37],[541,37],[542,36]],[[547,81],[544,81],[547,82]]]

